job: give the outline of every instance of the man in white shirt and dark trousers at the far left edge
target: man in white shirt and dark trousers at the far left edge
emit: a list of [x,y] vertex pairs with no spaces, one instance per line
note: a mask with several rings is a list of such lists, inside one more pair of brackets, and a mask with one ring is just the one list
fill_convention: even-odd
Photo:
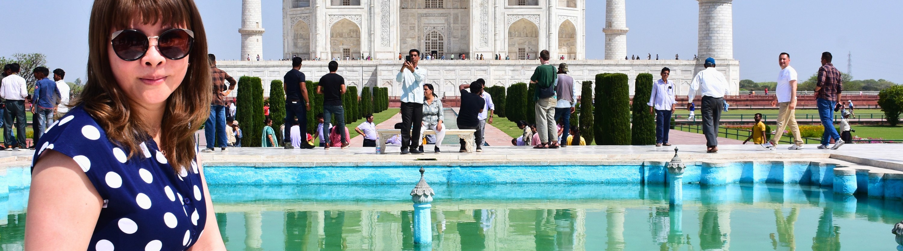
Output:
[[[8,76],[3,79],[2,85],[0,85],[0,98],[6,99],[3,127],[4,138],[7,140],[5,150],[8,151],[28,151],[28,147],[25,146],[25,98],[28,97],[28,88],[25,86],[25,79],[18,75],[19,70],[18,63],[11,63],[9,70],[6,72]],[[14,119],[15,139],[17,142],[10,140],[13,137]]]

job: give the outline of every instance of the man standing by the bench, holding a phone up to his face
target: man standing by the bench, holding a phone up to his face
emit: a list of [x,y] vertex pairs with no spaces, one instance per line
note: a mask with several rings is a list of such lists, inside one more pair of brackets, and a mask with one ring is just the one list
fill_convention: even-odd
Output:
[[[417,67],[420,51],[411,49],[408,58],[398,70],[396,81],[401,83],[401,153],[423,154],[417,150],[420,144],[420,126],[424,120],[424,81],[426,70]],[[414,126],[412,129],[411,126]],[[413,135],[413,136],[412,136]]]

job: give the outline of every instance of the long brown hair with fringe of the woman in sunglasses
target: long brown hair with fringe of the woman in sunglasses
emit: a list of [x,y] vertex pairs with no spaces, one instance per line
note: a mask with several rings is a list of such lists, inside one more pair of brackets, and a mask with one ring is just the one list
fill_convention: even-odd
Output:
[[207,37],[193,1],[96,0],[88,24],[88,83],[70,106],[83,106],[110,141],[128,149],[129,158],[140,153],[139,144],[151,139],[151,125],[157,122],[143,121],[132,113],[129,99],[113,76],[107,52],[110,31],[128,29],[137,22],[184,25],[194,32],[185,79],[166,99],[163,120],[159,121],[160,150],[173,171],[179,172],[195,158],[193,135],[207,120],[212,98]]

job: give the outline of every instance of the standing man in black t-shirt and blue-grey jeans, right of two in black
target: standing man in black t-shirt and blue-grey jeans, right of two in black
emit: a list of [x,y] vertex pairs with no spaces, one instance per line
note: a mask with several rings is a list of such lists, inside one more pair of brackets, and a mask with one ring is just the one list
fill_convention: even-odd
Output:
[[[326,146],[323,149],[330,149],[330,120],[332,116],[336,116],[336,126],[345,127],[345,110],[341,107],[341,96],[345,94],[345,78],[336,74],[339,70],[339,62],[330,61],[330,73],[320,78],[320,84],[317,85],[317,93],[323,95],[323,139]],[[341,135],[341,148],[348,147],[350,143],[345,141],[345,130],[339,130]]]

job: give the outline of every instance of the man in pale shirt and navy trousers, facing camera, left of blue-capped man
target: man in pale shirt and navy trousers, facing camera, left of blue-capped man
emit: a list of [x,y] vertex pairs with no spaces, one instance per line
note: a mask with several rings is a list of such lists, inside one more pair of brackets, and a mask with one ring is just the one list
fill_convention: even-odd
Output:
[[668,81],[671,70],[662,69],[662,79],[658,79],[652,85],[652,95],[649,96],[649,113],[656,115],[656,146],[671,145],[668,143],[668,133],[671,131],[671,115],[675,112],[675,83]]

